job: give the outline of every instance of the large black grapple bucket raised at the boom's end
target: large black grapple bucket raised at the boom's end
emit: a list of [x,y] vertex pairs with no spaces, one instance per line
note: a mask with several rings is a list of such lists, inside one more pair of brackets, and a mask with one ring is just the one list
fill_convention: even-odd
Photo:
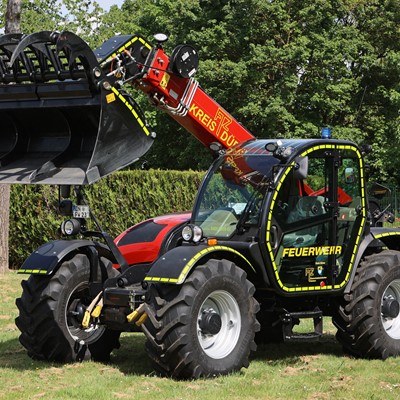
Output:
[[0,36],[0,183],[89,184],[145,154],[153,134],[105,65],[135,36],[93,52],[71,32]]

